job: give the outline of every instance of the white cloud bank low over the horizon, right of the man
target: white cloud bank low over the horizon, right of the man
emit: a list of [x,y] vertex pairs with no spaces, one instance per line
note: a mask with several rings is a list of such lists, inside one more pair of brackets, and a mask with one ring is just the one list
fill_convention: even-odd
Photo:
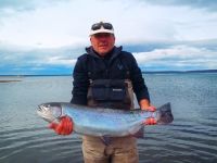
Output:
[[217,68],[216,50],[191,45],[171,46],[150,52],[133,53],[138,63],[149,71],[173,70],[215,70]]

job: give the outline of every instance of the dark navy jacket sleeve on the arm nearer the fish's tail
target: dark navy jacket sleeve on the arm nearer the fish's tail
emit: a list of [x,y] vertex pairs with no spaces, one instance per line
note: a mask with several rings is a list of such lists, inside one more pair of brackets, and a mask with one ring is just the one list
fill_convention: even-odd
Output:
[[137,63],[135,57],[130,53],[130,58],[128,58],[128,59],[130,60],[130,62],[129,62],[130,63],[130,78],[132,82],[132,88],[137,96],[138,102],[141,99],[148,99],[150,101],[150,95],[149,95],[148,87],[144,83],[141,70],[138,66],[138,63]]

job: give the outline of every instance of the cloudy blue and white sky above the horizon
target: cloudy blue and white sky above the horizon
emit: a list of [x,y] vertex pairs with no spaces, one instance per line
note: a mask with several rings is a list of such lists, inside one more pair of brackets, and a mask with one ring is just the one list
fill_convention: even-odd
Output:
[[72,74],[100,21],[144,72],[217,70],[217,0],[0,0],[0,75]]

